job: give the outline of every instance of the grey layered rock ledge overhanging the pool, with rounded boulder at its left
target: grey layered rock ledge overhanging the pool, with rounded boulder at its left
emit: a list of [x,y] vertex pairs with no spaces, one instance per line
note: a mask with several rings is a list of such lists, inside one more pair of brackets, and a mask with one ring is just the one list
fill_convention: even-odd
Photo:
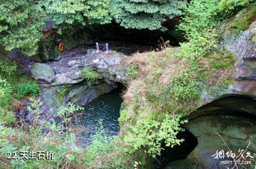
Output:
[[[125,83],[128,77],[122,67],[124,58],[119,52],[97,53],[95,49],[78,47],[64,52],[56,62],[33,64],[31,74],[43,86],[40,98],[44,119],[58,120],[56,112],[61,105],[68,102],[87,105],[116,89],[117,83]],[[85,68],[97,71],[100,76],[95,81],[86,81],[82,75]]]

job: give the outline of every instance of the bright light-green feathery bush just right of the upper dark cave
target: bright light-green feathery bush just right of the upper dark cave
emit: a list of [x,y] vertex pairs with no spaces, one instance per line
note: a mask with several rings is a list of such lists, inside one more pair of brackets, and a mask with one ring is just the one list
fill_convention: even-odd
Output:
[[217,35],[213,28],[222,20],[218,16],[218,1],[193,0],[186,8],[183,23],[178,26],[188,40],[181,43],[181,57],[193,62],[217,47]]

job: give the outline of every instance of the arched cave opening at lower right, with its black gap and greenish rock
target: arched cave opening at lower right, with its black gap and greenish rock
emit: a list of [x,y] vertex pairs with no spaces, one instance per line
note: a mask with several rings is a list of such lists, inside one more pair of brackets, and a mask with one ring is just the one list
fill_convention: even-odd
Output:
[[[164,150],[154,161],[154,168],[222,168],[220,160],[215,160],[212,155],[216,151],[228,151],[223,140],[233,152],[250,143],[248,150],[255,153],[255,97],[225,95],[198,108],[187,119],[185,132],[178,134],[179,139],[185,139],[183,144],[174,148],[162,146]],[[225,166],[233,168],[232,163]],[[238,165],[238,168],[243,167]]]

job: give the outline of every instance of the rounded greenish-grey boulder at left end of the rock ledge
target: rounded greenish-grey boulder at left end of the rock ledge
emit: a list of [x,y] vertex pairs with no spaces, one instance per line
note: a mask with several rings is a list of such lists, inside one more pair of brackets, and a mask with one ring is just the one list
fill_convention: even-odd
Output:
[[55,79],[54,69],[47,64],[33,64],[31,74],[38,81],[52,83]]

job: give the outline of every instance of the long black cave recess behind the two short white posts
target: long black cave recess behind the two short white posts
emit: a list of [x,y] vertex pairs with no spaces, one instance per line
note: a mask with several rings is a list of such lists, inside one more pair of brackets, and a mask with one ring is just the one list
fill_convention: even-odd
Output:
[[[71,32],[63,33],[61,38],[66,39],[66,43],[70,43],[71,37],[74,41],[72,43],[86,45],[90,48],[95,48],[95,42],[99,42],[102,46],[108,43],[110,49],[129,55],[134,52],[149,52],[161,49],[161,46],[167,43],[167,46],[178,46],[179,42],[184,40],[183,33],[176,28],[178,22],[177,19],[166,23],[165,27],[168,28],[166,31],[126,29],[117,23],[90,25],[84,28],[73,28]],[[167,43],[165,44],[165,42]]]

